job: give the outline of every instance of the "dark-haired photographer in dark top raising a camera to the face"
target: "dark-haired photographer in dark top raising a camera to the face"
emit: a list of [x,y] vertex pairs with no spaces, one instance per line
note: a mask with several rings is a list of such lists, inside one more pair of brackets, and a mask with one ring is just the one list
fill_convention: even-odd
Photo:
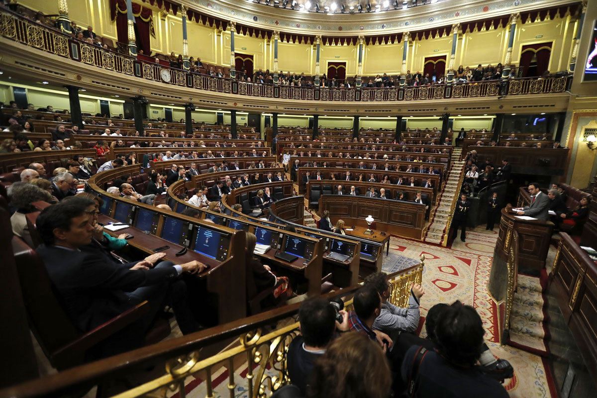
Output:
[[325,353],[325,348],[337,332],[349,330],[348,313],[340,309],[344,306],[340,303],[313,297],[303,301],[298,310],[301,335],[288,346],[287,366],[291,383],[300,389],[303,397],[306,396],[315,360]]

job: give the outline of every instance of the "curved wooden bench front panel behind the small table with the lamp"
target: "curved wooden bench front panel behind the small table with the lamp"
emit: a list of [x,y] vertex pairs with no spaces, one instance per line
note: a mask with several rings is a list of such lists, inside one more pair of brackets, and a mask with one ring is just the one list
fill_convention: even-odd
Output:
[[[365,196],[322,195],[319,211],[330,211],[334,223],[344,220],[347,228],[367,227],[365,218],[371,215],[377,229],[390,234],[423,239],[425,206],[417,203],[365,198]],[[369,237],[367,239],[370,239]]]

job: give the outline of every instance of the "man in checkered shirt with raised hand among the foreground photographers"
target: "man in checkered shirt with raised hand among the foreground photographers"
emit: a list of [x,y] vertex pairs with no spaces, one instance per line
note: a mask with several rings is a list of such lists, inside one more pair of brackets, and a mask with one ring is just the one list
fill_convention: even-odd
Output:
[[373,322],[373,329],[382,331],[390,337],[397,332],[416,332],[419,322],[419,300],[425,292],[421,285],[413,283],[408,298],[408,308],[396,307],[388,300],[392,294],[392,285],[387,280],[385,272],[370,274],[365,279],[365,286],[376,289],[381,297],[381,311]]

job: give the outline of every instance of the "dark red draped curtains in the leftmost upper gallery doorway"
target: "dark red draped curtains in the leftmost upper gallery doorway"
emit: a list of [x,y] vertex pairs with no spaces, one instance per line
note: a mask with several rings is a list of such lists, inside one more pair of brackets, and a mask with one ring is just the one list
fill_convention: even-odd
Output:
[[[149,7],[133,3],[133,15],[135,17],[137,50],[143,50],[144,54],[149,55],[151,53],[149,35],[153,29],[152,10]],[[128,43],[127,2],[125,0],[110,0],[110,16],[112,20],[116,18],[118,41]]]

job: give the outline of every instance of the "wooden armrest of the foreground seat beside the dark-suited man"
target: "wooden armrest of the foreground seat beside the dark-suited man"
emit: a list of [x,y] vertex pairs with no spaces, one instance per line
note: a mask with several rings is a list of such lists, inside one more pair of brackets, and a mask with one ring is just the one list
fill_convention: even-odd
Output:
[[[84,353],[88,348],[106,340],[106,338],[121,331],[125,326],[135,322],[149,310],[149,303],[143,301],[143,303],[137,304],[137,306],[124,311],[102,325],[97,326],[97,328],[79,336],[75,341],[64,345],[54,353],[56,362],[60,362],[62,358],[81,355],[81,353]],[[68,360],[68,362],[71,362],[71,360]]]

